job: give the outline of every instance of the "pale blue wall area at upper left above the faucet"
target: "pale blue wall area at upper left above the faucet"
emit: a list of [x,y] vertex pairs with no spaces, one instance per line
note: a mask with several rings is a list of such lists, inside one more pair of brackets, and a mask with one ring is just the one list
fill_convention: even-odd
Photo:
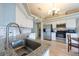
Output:
[[16,20],[16,4],[3,3],[0,4],[0,27],[6,26],[8,23]]

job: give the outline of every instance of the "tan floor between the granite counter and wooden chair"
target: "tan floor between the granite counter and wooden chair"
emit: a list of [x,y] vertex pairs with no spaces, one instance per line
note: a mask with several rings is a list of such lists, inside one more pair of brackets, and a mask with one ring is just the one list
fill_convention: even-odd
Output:
[[51,47],[49,48],[50,56],[79,56],[78,49],[72,48],[68,53],[67,44],[57,41],[50,41]]

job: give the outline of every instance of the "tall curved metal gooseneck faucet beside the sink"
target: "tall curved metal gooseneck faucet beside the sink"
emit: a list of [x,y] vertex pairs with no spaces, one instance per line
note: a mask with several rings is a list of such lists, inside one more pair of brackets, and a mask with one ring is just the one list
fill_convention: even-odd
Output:
[[9,27],[17,27],[18,30],[19,30],[19,33],[21,34],[21,29],[20,29],[18,24],[16,24],[16,23],[9,23],[6,26],[5,50],[9,49]]

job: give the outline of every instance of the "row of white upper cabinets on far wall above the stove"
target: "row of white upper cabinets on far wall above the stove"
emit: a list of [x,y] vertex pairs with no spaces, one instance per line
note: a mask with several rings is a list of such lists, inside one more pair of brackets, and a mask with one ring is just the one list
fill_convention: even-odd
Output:
[[56,21],[52,21],[52,22],[49,22],[47,24],[52,24],[53,25],[53,29],[57,29],[57,25],[61,25],[61,24],[65,24],[65,26],[66,26],[65,29],[76,29],[76,18],[58,19]]

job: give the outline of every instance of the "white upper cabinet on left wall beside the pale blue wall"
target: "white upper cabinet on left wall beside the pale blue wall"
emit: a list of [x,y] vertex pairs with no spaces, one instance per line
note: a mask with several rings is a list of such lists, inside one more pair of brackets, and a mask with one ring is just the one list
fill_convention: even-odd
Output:
[[16,6],[16,23],[22,27],[33,28],[33,20],[28,19],[18,6]]

